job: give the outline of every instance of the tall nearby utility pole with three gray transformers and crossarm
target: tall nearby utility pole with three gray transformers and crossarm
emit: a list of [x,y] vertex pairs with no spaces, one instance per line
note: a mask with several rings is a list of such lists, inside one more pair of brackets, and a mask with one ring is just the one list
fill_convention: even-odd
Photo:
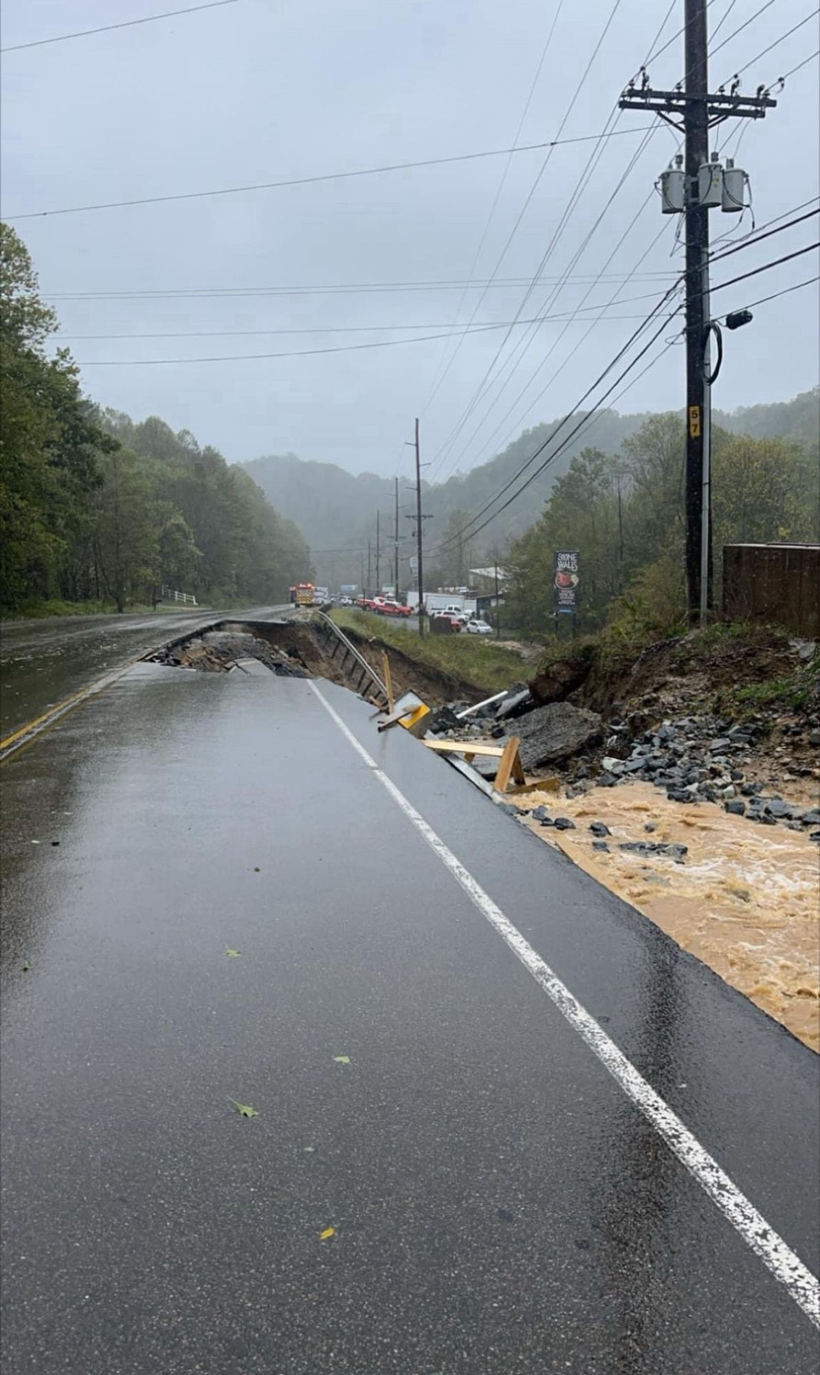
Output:
[[[772,100],[765,87],[742,96],[740,78],[729,92],[709,92],[707,0],[684,0],[685,74],[674,91],[654,91],[645,69],[618,102],[622,110],[654,111],[685,136],[685,160],[660,177],[662,210],[682,213],[687,292],[687,594],[689,622],[704,626],[711,608],[711,322],[709,302],[709,212],[744,208],[746,173],[717,154],[709,155],[709,132],[729,118],[762,120]],[[673,118],[677,116],[678,118]]]

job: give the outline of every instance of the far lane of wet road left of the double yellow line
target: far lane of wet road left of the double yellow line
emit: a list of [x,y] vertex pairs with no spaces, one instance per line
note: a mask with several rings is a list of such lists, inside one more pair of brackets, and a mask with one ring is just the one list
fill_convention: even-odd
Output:
[[222,615],[253,612],[157,612],[139,616],[54,616],[0,626],[0,738],[50,711],[111,670],[121,668],[187,628]]

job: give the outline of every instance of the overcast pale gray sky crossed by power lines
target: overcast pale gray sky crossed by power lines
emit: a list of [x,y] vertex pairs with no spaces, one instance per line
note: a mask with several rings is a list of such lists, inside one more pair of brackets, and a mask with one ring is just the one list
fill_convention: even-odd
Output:
[[[6,0],[3,47],[186,3]],[[711,60],[713,89],[814,7],[813,0],[773,0],[731,37],[762,6],[764,0],[710,4],[710,29],[721,25],[710,43],[711,48],[721,44]],[[598,55],[578,91],[612,10]],[[669,10],[667,0],[564,0],[563,6],[559,0],[237,0],[7,52],[3,213],[11,219],[509,147],[556,12],[517,142],[554,139],[574,96],[563,138],[597,135]],[[681,25],[678,0],[658,45]],[[817,37],[814,16],[751,63],[743,73],[743,91],[753,94],[759,82],[790,72],[817,50]],[[682,76],[682,37],[651,62],[649,74],[655,87],[674,85]],[[817,197],[817,60],[797,72],[777,99],[765,121],[736,121],[718,131],[729,154],[743,133],[739,162],[751,176],[758,226],[787,217],[794,206]],[[634,132],[603,146],[554,242],[597,146],[568,143],[552,151],[475,324],[513,319],[548,249],[543,280],[524,305],[523,319],[609,302],[618,292],[625,304],[615,300],[583,341],[594,312],[583,312],[563,334],[563,320],[543,323],[534,334],[517,326],[498,359],[498,364],[509,360],[506,371],[449,451],[446,440],[493,363],[504,329],[473,333],[457,352],[454,337],[451,342],[308,358],[187,360],[446,334],[457,319],[464,326],[482,289],[410,290],[407,283],[464,283],[471,274],[486,282],[532,191],[545,151],[510,158],[502,186],[508,160],[494,157],[12,223],[29,246],[43,294],[59,311],[65,342],[83,364],[83,384],[102,404],[138,419],[158,414],[230,459],[293,451],[352,472],[385,474],[409,455],[403,441],[421,411],[425,455],[439,455],[431,476],[439,477],[451,466],[465,469],[490,456],[524,426],[568,410],[638,324],[629,316],[649,309],[680,268],[681,250],[673,243],[677,217],[663,217],[654,195],[605,265],[676,151],[676,136],[660,126],[625,175],[641,146],[638,129],[649,122],[643,114],[621,116],[618,131]],[[808,220],[715,264],[713,282],[814,242],[817,223]],[[713,239],[750,227],[748,216],[737,230],[736,217],[711,213]],[[662,238],[651,248],[659,232]],[[596,285],[604,265],[607,275]],[[568,270],[572,280],[559,282],[556,292],[556,279]],[[746,305],[816,274],[817,257],[806,254],[715,293],[713,311]],[[519,280],[498,285],[504,279]],[[395,286],[264,294],[271,287],[384,283]],[[223,294],[120,300],[83,294],[188,290]],[[224,294],[242,290],[252,294]],[[65,298],[72,293],[81,298]],[[349,333],[373,326],[380,329]],[[670,324],[636,373],[678,327]],[[330,329],[348,333],[224,333]],[[188,331],[194,337],[80,338]],[[135,359],[186,362],[128,362]],[[92,366],[95,360],[127,362]],[[715,404],[732,408],[787,399],[816,384],[817,362],[817,287],[809,286],[761,305],[754,324],[728,338]],[[681,407],[682,367],[681,346],[670,348],[618,408]],[[429,400],[436,381],[440,385]]]

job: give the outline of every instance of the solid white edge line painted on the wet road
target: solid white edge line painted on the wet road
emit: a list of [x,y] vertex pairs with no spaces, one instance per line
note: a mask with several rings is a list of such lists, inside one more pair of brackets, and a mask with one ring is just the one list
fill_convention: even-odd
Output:
[[623,1052],[618,1049],[615,1042],[609,1040],[596,1019],[589,1015],[586,1008],[581,1005],[570,989],[561,983],[559,976],[553,974],[546,961],[541,958],[538,952],[532,949],[521,932],[513,927],[508,917],[505,917],[501,908],[497,906],[497,903],[493,902],[493,898],[484,892],[482,886],[476,881],[476,879],[473,879],[472,873],[464,868],[461,861],[455,858],[442,837],[436,835],[432,826],[428,825],[421,813],[416,810],[404,793],[400,792],[393,782],[391,782],[385,773],[382,773],[365,747],[359,744],[352,730],[348,730],[338,712],[333,710],[325,694],[319,688],[316,688],[315,682],[311,682],[310,686],[322,703],[325,711],[336,722],[343,736],[349,741],[356,754],[360,755],[382,788],[387,788],[393,802],[399,804],[404,815],[424,836],[431,850],[435,851],[444,868],[447,868],[457,883],[461,884],[472,902],[475,902],[479,912],[484,914],[490,925],[495,927],[499,936],[506,940],[510,950],[519,957],[524,968],[530,971],[535,982],[554,1002],[559,1012],[567,1019],[570,1026],[578,1031],[578,1035],[586,1041],[587,1046],[594,1055],[597,1055],[604,1068],[609,1071],[626,1096],[632,1099],[647,1121],[652,1123],[658,1134],[666,1141],[670,1151],[677,1155],[681,1165],[684,1165],[689,1174],[698,1180],[698,1184],[700,1184],[706,1194],[709,1194],[713,1203],[717,1204],[724,1217],[728,1218],[735,1231],[743,1238],[746,1244],[751,1247],[755,1255],[759,1255],[761,1261],[772,1272],[775,1279],[780,1280],[780,1283],[786,1286],[795,1304],[802,1308],[803,1313],[810,1319],[814,1327],[820,1328],[820,1282],[817,1282],[808,1266],[803,1265],[799,1255],[795,1255],[783,1238],[777,1236],[775,1229],[766,1222],[765,1217],[758,1213],[754,1204],[720,1167],[717,1160],[711,1158],[709,1151],[706,1151],[696,1137],[692,1136],[689,1129],[684,1126],[681,1119],[673,1112],[669,1104],[665,1103],[660,1094],[655,1093],[655,1089],[647,1084],[641,1074],[638,1074],[634,1064],[632,1064]]

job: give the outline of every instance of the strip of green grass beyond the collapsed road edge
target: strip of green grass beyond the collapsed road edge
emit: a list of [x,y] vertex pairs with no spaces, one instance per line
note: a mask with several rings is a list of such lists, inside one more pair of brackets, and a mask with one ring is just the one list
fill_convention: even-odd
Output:
[[418,631],[407,630],[365,610],[334,609],[333,620],[343,628],[355,630],[359,635],[382,639],[385,645],[400,649],[409,659],[454,674],[487,694],[501,692],[513,682],[531,676],[531,664],[512,649],[504,649],[488,638],[468,635],[431,635],[420,638]]

